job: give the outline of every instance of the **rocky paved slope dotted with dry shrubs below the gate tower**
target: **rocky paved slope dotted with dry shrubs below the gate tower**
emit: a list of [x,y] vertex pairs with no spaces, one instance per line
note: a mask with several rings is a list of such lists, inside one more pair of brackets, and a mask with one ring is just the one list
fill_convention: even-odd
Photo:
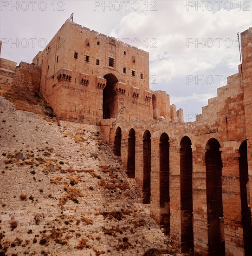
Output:
[[167,239],[97,126],[0,96],[0,255],[143,255]]

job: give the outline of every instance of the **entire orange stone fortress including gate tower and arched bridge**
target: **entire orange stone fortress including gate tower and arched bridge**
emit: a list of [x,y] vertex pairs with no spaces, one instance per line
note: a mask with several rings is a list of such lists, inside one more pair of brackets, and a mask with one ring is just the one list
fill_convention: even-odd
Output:
[[149,89],[149,54],[66,20],[32,64],[1,59],[2,82],[40,92],[61,121],[98,126],[150,216],[181,253],[252,252],[252,28],[242,66],[196,121]]

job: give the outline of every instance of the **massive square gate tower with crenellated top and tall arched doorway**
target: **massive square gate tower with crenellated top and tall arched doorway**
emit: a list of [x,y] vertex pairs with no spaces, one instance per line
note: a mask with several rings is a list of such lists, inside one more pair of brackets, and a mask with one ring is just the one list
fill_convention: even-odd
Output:
[[41,67],[40,91],[60,119],[183,121],[165,92],[149,90],[148,52],[70,20],[32,62]]

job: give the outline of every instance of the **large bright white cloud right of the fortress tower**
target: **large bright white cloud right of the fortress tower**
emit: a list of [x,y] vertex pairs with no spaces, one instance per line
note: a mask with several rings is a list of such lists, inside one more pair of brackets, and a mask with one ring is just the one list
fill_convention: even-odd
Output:
[[[230,61],[227,68],[235,68],[239,57],[236,34],[249,27],[250,13],[239,11],[237,1],[233,2],[236,8],[227,11],[222,7],[215,12],[187,11],[187,2],[157,1],[156,12],[126,13],[110,34],[116,38],[137,37],[140,47],[150,53],[150,72],[165,82],[214,69],[225,59]],[[147,47],[146,39],[156,39],[157,47]]]

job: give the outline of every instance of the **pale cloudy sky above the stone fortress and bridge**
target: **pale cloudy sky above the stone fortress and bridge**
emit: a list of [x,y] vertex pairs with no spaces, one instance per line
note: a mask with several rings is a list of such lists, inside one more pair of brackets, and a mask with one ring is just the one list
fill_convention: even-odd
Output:
[[150,89],[194,121],[238,73],[237,33],[252,27],[252,0],[0,0],[1,57],[28,63],[74,13],[74,22],[149,52]]

